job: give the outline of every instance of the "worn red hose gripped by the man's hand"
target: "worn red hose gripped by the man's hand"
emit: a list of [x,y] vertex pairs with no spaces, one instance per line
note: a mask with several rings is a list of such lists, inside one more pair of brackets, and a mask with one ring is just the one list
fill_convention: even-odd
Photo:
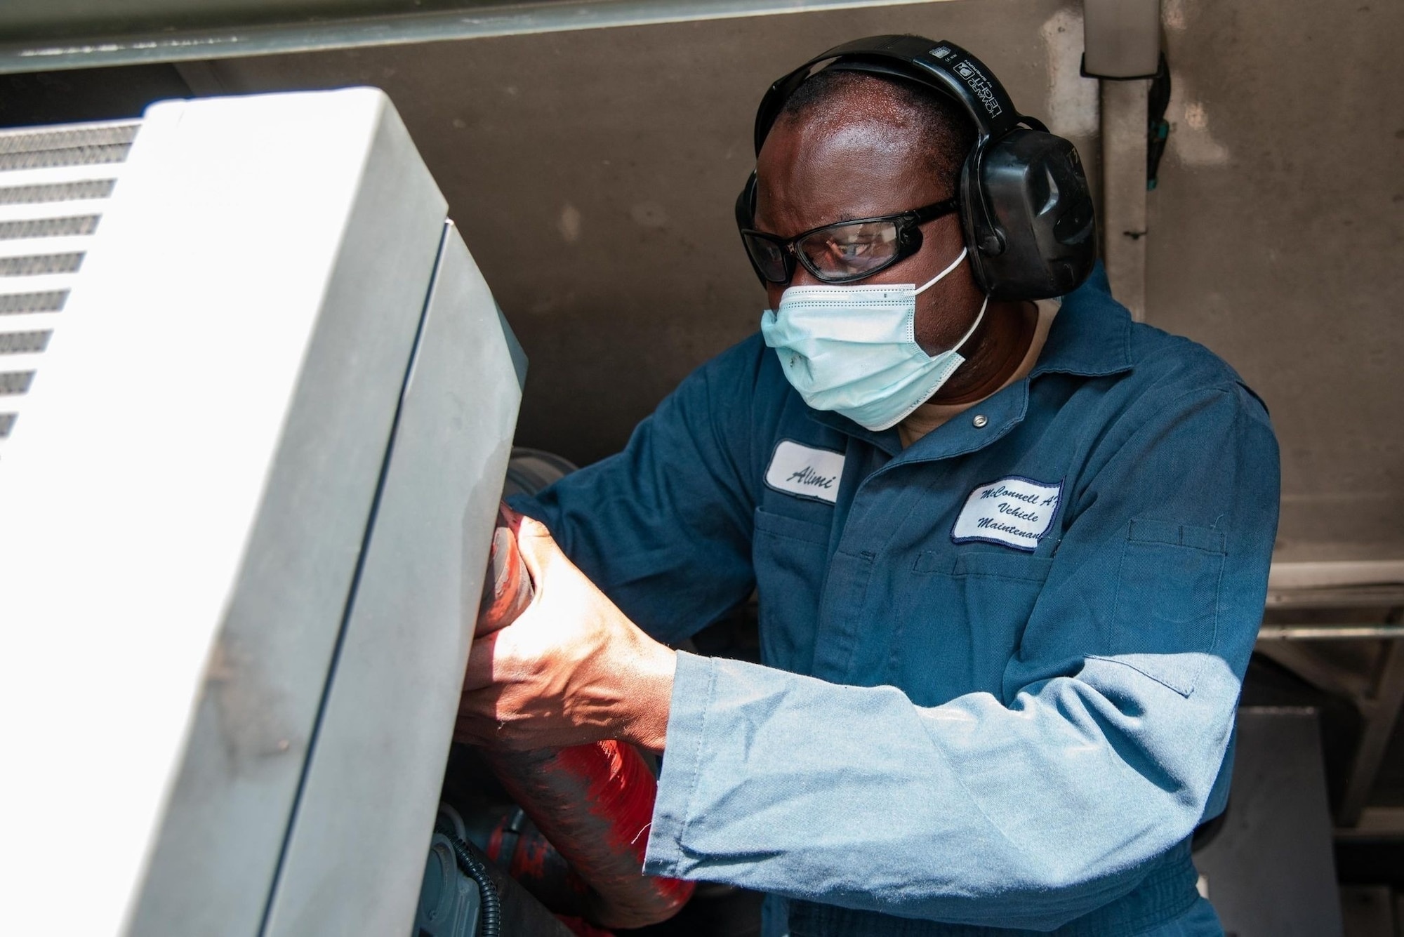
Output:
[[[517,550],[521,516],[503,505],[477,633],[511,624],[531,603],[532,582]],[[484,749],[493,773],[590,887],[587,917],[602,927],[643,927],[675,915],[692,882],[643,874],[657,781],[639,752],[605,741],[563,749]]]

